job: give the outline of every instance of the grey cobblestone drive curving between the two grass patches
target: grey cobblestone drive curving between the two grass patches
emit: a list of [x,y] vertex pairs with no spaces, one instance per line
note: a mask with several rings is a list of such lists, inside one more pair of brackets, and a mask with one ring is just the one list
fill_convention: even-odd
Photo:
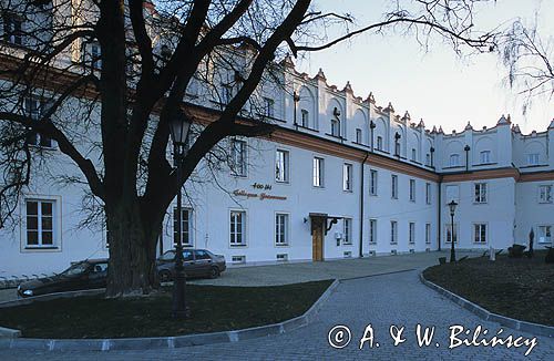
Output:
[[[110,352],[45,352],[0,350],[2,360],[553,360],[554,339],[537,338],[537,345],[527,358],[526,347],[497,345],[459,347],[449,350],[449,327],[461,324],[474,329],[479,324],[489,330],[489,337],[501,327],[482,321],[473,313],[442,298],[421,285],[419,271],[342,281],[322,307],[318,320],[290,333],[236,343],[211,344],[175,350],[142,350]],[[368,323],[375,330],[375,344],[366,343],[359,350],[359,340]],[[435,326],[430,347],[417,345],[414,328]],[[351,342],[343,349],[332,349],[327,341],[336,324],[348,326]],[[389,327],[404,326],[406,342],[392,345]],[[505,329],[502,336],[532,338]],[[460,336],[461,338],[461,336]],[[379,348],[377,348],[377,342]],[[439,343],[437,347],[435,343]]]

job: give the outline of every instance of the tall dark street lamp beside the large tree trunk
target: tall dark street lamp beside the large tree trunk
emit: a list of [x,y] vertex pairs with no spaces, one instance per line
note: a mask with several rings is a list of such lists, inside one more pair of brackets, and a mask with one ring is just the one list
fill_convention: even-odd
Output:
[[182,204],[181,204],[181,188],[182,188],[182,165],[183,156],[185,154],[185,146],[188,140],[188,132],[191,130],[191,121],[183,113],[178,113],[178,116],[173,117],[170,121],[170,133],[173,141],[174,153],[173,161],[176,167],[176,182],[178,185],[177,190],[177,224],[175,233],[177,235],[175,239],[175,281],[173,282],[173,307],[172,314],[174,318],[188,318],[191,317],[191,310],[186,305],[185,298],[185,267],[183,265],[183,243],[182,243]]

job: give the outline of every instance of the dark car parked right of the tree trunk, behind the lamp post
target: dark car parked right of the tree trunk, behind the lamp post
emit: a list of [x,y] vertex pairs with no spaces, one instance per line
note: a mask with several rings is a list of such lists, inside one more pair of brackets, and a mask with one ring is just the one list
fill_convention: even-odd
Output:
[[[184,249],[183,259],[187,278],[217,278],[227,268],[224,256],[206,249]],[[157,259],[157,275],[161,282],[175,277],[175,250],[168,250]]]

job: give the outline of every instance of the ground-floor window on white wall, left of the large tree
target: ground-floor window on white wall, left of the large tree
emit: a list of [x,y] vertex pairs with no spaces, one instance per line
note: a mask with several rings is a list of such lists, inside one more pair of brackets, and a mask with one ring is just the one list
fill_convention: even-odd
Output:
[[54,200],[25,200],[25,231],[28,248],[54,247]]

